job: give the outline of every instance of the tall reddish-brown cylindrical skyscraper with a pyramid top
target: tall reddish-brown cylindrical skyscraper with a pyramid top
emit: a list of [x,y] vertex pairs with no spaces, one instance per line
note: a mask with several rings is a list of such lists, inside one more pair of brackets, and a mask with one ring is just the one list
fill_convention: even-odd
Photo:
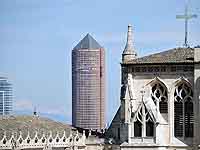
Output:
[[72,50],[72,124],[105,126],[105,52],[89,34]]

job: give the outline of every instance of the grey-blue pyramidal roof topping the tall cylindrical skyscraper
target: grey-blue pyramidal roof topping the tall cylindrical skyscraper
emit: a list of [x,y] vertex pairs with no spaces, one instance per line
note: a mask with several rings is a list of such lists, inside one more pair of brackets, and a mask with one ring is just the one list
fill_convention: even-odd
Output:
[[88,33],[74,48],[79,49],[100,49],[102,46]]

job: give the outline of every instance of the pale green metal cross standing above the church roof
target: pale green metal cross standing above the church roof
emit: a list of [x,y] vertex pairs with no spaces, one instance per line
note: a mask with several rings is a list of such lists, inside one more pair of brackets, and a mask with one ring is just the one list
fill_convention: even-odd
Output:
[[197,18],[197,15],[188,13],[188,3],[186,3],[185,14],[184,15],[176,15],[176,18],[177,19],[185,19],[185,43],[184,43],[184,46],[189,47],[189,44],[188,44],[188,20],[190,20],[192,18]]

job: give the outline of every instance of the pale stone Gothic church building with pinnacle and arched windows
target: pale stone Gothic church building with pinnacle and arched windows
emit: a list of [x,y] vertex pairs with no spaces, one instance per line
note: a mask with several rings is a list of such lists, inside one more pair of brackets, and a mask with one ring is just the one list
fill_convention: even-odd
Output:
[[121,105],[108,129],[120,149],[200,149],[200,48],[138,58],[132,27],[121,63]]

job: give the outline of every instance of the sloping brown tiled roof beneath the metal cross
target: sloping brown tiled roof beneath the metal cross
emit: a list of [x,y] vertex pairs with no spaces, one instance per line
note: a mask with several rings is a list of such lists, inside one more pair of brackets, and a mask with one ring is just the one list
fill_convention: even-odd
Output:
[[164,52],[140,57],[123,64],[160,64],[160,63],[193,63],[193,48],[174,48]]

